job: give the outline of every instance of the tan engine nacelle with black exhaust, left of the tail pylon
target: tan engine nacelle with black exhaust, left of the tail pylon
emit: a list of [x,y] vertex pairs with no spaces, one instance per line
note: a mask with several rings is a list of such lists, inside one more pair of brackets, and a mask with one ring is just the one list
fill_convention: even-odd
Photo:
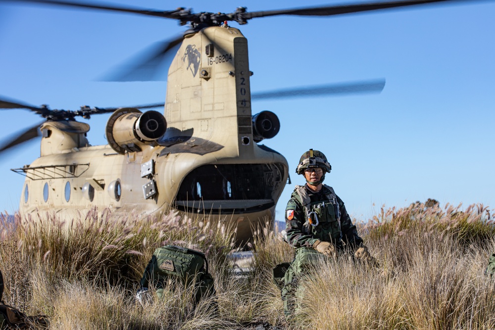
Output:
[[167,130],[167,121],[158,111],[142,113],[136,108],[116,110],[106,123],[106,138],[113,150],[124,154],[155,145]]

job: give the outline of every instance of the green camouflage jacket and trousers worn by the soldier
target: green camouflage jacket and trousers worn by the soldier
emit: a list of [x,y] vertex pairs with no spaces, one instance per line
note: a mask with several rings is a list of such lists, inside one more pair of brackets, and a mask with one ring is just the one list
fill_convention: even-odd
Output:
[[298,289],[300,274],[315,261],[324,258],[323,254],[313,248],[318,239],[331,242],[337,251],[345,248],[355,251],[364,244],[357,235],[356,226],[352,224],[344,202],[326,185],[317,192],[307,185],[296,186],[287,203],[286,233],[287,241],[296,248],[296,258],[285,273],[285,285],[282,289],[284,312],[290,315],[296,307],[295,298],[301,298],[303,294]]

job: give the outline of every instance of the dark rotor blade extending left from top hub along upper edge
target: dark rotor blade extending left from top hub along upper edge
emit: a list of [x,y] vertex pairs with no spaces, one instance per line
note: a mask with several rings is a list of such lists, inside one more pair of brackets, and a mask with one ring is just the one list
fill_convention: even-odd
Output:
[[164,18],[179,18],[178,12],[179,10],[151,10],[151,9],[138,9],[138,8],[130,8],[130,7],[116,7],[112,5],[102,5],[96,3],[89,2],[76,2],[76,1],[59,1],[59,0],[0,0],[0,2],[32,2],[32,3],[41,3],[48,5],[57,5],[57,6],[69,6],[69,7],[79,7],[79,8],[88,8],[88,9],[99,9],[99,10],[110,10],[110,11],[119,11],[119,12],[127,12],[148,16],[156,16],[156,17],[164,17]]

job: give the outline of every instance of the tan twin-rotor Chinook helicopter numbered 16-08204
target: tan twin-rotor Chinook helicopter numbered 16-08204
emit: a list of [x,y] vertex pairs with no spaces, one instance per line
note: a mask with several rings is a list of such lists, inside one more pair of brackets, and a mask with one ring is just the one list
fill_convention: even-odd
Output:
[[[273,218],[289,166],[284,156],[258,144],[274,137],[280,123],[271,112],[251,113],[247,39],[229,22],[245,24],[252,18],[274,15],[329,16],[446,1],[452,0],[254,12],[240,7],[229,14],[195,14],[184,8],[155,11],[25,0],[176,19],[182,25],[190,23],[191,28],[161,51],[175,51],[174,46],[180,45],[168,71],[164,116],[139,110],[156,105],[65,111],[0,101],[2,108],[27,108],[47,119],[40,128],[41,157],[14,169],[26,176],[20,212],[55,210],[70,215],[74,209],[110,207],[159,216],[176,207],[211,219],[227,218],[237,225],[238,239],[245,240],[253,226]],[[383,84],[337,90],[381,90]],[[89,126],[75,117],[107,112],[112,112],[105,129],[108,144],[90,146]],[[37,133],[37,127],[31,128],[4,148]]]

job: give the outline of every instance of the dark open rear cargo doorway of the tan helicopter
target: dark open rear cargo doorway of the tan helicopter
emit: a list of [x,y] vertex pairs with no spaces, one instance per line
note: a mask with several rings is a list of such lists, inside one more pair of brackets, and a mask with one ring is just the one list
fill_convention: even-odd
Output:
[[[198,211],[211,205],[221,213],[262,210],[275,205],[274,191],[284,177],[282,164],[208,164],[191,171],[176,197],[179,209]],[[200,201],[200,203],[195,201]],[[215,210],[211,210],[215,212]]]

